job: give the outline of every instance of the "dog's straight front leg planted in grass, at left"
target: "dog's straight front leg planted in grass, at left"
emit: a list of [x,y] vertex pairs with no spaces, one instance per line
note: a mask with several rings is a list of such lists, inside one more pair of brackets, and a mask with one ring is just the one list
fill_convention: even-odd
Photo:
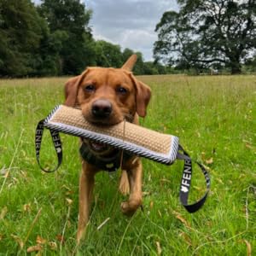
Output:
[[90,166],[87,162],[83,161],[83,168],[79,181],[79,229],[77,233],[77,241],[81,240],[86,230],[86,224],[89,221],[90,214],[90,201],[92,198],[94,187],[94,176],[96,168]]

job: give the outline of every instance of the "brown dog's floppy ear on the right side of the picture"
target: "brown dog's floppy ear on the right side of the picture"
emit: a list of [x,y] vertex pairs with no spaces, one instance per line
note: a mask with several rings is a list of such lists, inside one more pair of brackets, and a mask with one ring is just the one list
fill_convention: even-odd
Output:
[[137,80],[133,74],[131,75],[131,80],[135,84],[136,93],[136,111],[140,117],[145,117],[147,114],[148,102],[151,98],[151,89],[147,84]]

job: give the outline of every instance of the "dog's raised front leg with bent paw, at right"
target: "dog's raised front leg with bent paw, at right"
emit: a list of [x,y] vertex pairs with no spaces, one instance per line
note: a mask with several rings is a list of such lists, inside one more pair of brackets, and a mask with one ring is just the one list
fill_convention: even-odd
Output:
[[[129,163],[128,163],[129,165]],[[143,165],[139,158],[132,161],[130,166],[126,166],[127,176],[130,184],[130,196],[128,201],[121,204],[122,212],[131,215],[142,205],[142,179]]]

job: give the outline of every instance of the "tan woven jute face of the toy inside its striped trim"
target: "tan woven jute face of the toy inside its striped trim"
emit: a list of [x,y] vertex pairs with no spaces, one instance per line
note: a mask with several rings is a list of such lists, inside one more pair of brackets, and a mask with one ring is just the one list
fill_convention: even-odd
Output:
[[49,123],[72,125],[87,131],[93,131],[122,141],[134,143],[160,154],[168,154],[171,148],[172,136],[152,131],[139,125],[121,122],[118,125],[92,125],[84,119],[78,108],[69,108],[62,105],[49,120]]

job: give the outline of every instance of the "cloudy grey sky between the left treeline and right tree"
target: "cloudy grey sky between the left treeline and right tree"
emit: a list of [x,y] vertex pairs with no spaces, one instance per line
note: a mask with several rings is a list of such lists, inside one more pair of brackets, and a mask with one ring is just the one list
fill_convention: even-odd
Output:
[[[80,0],[92,10],[90,27],[95,39],[119,44],[153,60],[156,24],[167,10],[177,10],[176,0]],[[39,3],[40,0],[33,0]]]

